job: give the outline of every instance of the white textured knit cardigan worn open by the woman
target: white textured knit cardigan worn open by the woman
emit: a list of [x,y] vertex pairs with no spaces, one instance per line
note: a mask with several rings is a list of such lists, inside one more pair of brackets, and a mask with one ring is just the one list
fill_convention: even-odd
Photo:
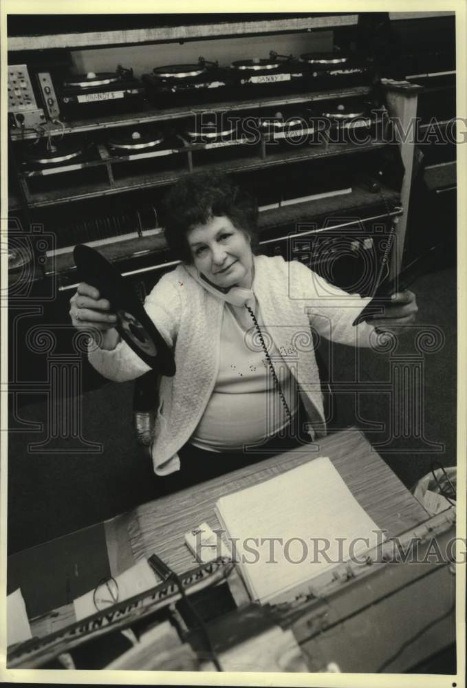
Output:
[[[330,286],[303,264],[279,256],[254,258],[253,290],[263,334],[272,338],[296,377],[309,420],[323,435],[323,400],[311,332],[340,343],[369,346],[373,327],[351,324],[369,299]],[[173,347],[177,366],[173,378],[162,377],[152,447],[155,473],[167,475],[180,469],[177,451],[195,431],[215,386],[224,301],[180,265],[158,281],[144,308]],[[112,351],[91,343],[89,361],[103,376],[119,382],[149,370],[123,341]]]

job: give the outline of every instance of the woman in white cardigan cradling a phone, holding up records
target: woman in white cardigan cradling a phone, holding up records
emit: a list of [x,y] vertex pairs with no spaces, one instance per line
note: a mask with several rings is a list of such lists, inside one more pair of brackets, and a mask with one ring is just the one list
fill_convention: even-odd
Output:
[[[186,175],[166,198],[166,240],[182,264],[144,305],[177,366],[173,378],[162,377],[152,447],[155,473],[175,473],[164,478],[169,489],[325,434],[313,330],[369,346],[374,325],[415,317],[415,297],[404,292],[384,318],[354,327],[368,299],[296,261],[255,255],[257,215],[248,193],[211,172]],[[74,326],[100,333],[89,361],[102,375],[123,381],[149,370],[120,341],[96,288],[81,283],[70,303]]]

